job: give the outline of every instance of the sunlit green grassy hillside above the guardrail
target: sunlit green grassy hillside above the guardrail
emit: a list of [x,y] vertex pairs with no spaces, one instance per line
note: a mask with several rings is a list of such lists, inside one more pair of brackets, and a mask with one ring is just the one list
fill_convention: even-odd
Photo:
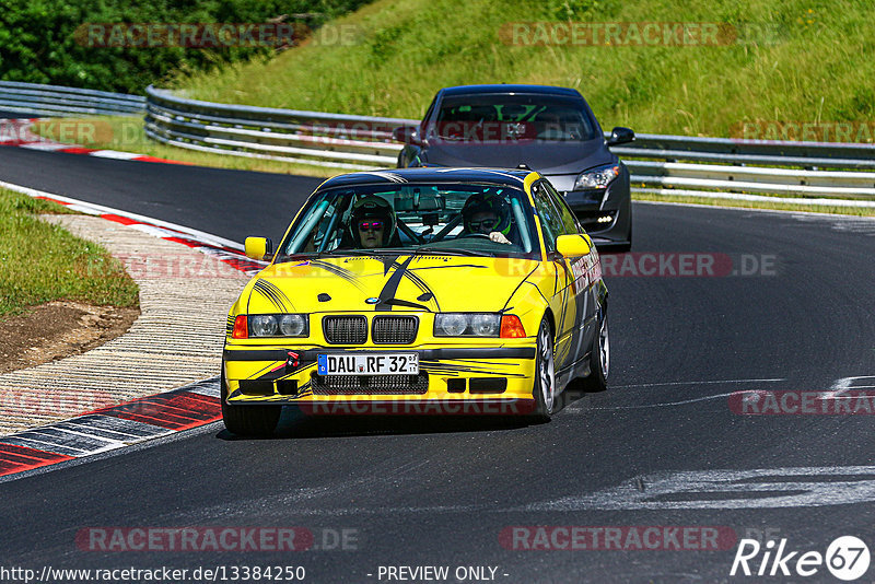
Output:
[[[700,22],[772,31],[721,46],[520,46],[513,22]],[[466,83],[576,87],[605,128],[730,136],[744,121],[875,119],[868,0],[378,0],[339,19],[352,44],[311,43],[272,60],[178,78],[195,98],[420,117]],[[723,37],[721,37],[723,38]]]

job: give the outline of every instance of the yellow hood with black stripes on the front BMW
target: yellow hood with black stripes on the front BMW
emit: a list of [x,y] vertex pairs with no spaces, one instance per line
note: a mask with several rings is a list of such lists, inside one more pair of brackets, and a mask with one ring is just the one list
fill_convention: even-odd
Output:
[[245,309],[317,313],[390,305],[393,311],[495,312],[538,266],[522,258],[410,255],[288,261],[258,273],[247,287]]

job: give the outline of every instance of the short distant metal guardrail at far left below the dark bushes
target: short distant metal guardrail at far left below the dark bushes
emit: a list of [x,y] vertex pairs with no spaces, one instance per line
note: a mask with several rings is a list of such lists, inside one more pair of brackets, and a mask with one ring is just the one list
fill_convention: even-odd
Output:
[[61,85],[0,81],[0,109],[39,116],[141,114],[145,97]]

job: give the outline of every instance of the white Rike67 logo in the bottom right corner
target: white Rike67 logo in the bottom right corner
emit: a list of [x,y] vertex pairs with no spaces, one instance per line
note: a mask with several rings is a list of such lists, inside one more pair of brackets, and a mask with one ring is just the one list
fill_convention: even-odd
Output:
[[774,540],[765,546],[756,539],[742,539],[730,575],[757,576],[813,576],[826,569],[839,580],[850,582],[863,576],[868,570],[872,557],[868,546],[854,536],[835,539],[826,553],[819,551],[791,551],[786,538],[775,548]]

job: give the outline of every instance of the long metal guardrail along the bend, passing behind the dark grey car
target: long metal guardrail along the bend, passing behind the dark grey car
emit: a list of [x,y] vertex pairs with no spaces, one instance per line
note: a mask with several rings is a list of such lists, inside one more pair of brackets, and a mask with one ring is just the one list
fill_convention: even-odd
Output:
[[[352,170],[392,167],[402,148],[392,130],[417,124],[199,102],[147,90],[150,138],[237,156]],[[639,191],[875,200],[875,172],[861,172],[875,170],[875,144],[638,135],[611,151],[623,157]]]

